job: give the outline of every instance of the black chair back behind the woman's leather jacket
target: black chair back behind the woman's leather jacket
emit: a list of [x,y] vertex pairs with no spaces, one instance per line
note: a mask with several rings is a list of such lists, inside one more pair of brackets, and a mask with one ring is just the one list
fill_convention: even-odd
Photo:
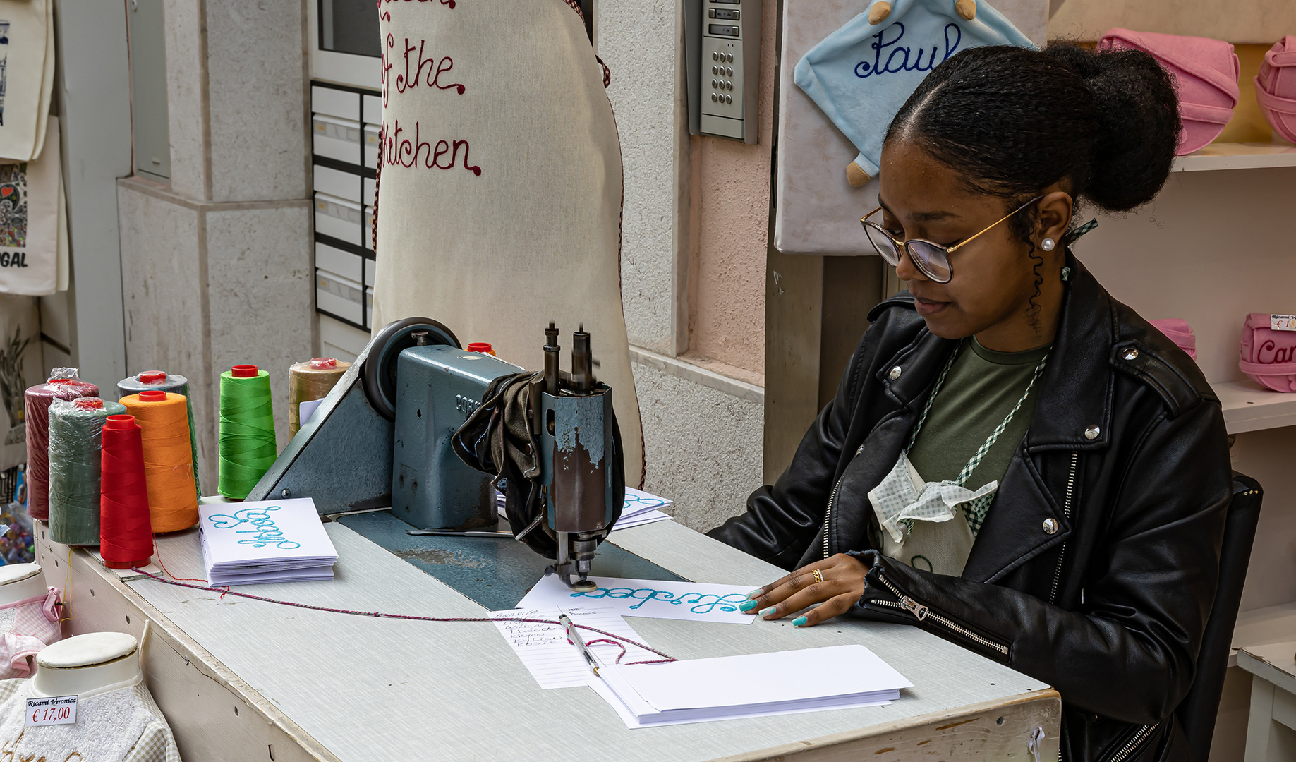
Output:
[[1201,651],[1198,652],[1196,679],[1183,702],[1174,710],[1196,762],[1205,762],[1210,756],[1223,673],[1229,666],[1232,629],[1238,623],[1242,586],[1247,581],[1251,544],[1256,539],[1264,495],[1260,482],[1245,474],[1232,473],[1232,500],[1229,503],[1223,546],[1220,549],[1220,587],[1201,638]]

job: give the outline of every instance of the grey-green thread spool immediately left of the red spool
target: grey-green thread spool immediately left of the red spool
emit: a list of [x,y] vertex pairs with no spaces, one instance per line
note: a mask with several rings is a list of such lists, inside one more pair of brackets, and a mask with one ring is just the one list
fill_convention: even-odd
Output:
[[97,397],[56,399],[49,406],[49,539],[98,544],[101,429],[126,406]]

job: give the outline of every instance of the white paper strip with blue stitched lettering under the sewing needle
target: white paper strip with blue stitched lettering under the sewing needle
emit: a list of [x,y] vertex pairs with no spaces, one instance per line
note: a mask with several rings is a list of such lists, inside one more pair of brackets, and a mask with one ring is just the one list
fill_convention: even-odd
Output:
[[517,603],[520,608],[588,606],[612,609],[623,617],[687,619],[750,625],[756,617],[737,609],[750,587],[591,577],[597,590],[577,592],[556,574],[542,577]]

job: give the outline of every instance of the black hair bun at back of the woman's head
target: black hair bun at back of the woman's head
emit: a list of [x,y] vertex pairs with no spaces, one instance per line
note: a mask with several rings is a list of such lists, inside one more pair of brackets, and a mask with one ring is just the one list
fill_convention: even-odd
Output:
[[1099,109],[1085,196],[1113,211],[1151,201],[1165,185],[1182,130],[1172,75],[1142,51],[1055,43],[1045,53],[1085,80]]

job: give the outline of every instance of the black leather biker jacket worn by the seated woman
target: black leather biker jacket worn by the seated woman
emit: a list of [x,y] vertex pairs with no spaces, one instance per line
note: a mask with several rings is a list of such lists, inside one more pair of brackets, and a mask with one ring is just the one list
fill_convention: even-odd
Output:
[[955,341],[902,293],[879,305],[796,457],[709,534],[784,569],[871,566],[854,616],[915,625],[1061,693],[1063,759],[1179,759],[1218,577],[1230,464],[1188,356],[1073,258],[1034,417],[962,577],[874,548],[868,491],[896,464]]

